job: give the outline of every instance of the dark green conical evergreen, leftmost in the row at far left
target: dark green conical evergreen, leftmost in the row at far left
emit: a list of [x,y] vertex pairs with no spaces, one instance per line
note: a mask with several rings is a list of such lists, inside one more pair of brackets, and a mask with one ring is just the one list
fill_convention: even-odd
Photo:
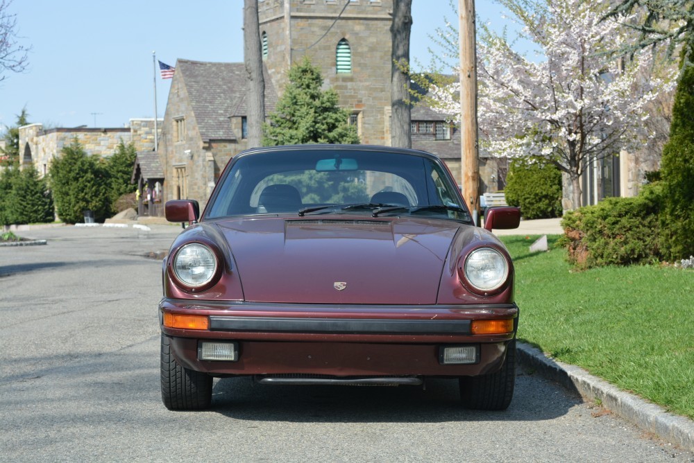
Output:
[[7,201],[12,223],[53,222],[53,198],[46,180],[39,178],[36,169],[23,168],[12,180]]

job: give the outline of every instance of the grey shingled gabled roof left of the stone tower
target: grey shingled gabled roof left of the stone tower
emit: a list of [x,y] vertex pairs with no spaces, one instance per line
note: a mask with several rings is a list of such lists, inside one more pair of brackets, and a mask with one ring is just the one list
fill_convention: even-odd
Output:
[[[237,139],[229,118],[246,115],[244,63],[178,60],[176,73],[183,78],[203,141]],[[275,109],[277,93],[265,68],[264,76],[265,112],[269,113]]]

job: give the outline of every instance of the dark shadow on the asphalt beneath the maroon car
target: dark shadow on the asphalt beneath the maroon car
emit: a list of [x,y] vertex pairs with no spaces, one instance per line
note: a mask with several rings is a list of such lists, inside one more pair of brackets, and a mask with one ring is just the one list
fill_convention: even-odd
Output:
[[503,412],[462,408],[458,383],[450,379],[430,379],[423,390],[414,386],[260,385],[251,378],[216,381],[212,411],[249,421],[309,423],[542,421],[563,416],[582,403],[573,394],[557,394],[552,383],[527,376],[521,369],[518,372],[514,400]]

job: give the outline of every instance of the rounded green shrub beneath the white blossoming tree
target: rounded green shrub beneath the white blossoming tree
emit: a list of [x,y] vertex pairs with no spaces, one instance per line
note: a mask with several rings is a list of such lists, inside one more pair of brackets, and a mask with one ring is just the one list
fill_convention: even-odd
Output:
[[506,202],[523,217],[561,216],[561,172],[544,159],[514,159],[507,175]]

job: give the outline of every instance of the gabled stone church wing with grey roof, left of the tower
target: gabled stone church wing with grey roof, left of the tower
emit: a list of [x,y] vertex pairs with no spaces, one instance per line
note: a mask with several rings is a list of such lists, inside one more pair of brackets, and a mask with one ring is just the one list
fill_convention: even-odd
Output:
[[[277,95],[267,83],[272,111]],[[224,166],[246,147],[244,63],[176,61],[158,145],[162,200],[190,198],[204,207]]]

